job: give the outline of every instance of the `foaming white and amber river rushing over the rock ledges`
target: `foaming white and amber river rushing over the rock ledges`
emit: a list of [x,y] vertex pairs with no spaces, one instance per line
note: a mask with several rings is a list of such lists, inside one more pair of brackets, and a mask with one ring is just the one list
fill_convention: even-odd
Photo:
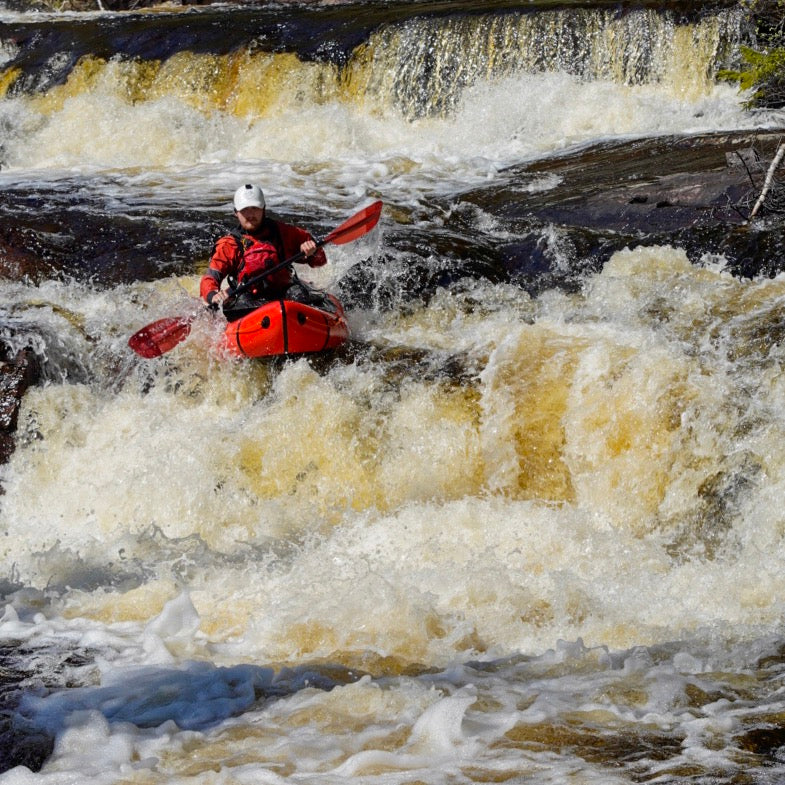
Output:
[[[0,783],[782,781],[779,256],[588,265],[506,212],[548,162],[783,128],[717,78],[740,7],[698,5],[0,10],[0,247],[35,260],[0,259],[0,334],[41,362]],[[303,274],[346,346],[212,348],[247,181],[317,236],[384,201]]]

